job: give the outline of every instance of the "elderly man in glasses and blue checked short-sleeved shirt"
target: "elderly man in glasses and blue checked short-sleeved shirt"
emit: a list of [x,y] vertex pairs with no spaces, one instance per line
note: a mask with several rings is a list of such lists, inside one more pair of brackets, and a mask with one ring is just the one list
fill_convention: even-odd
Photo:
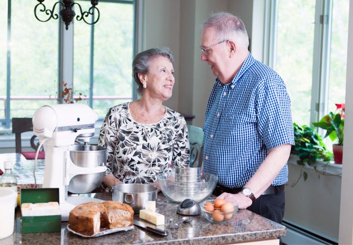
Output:
[[294,145],[290,99],[282,78],[248,46],[236,16],[216,13],[203,24],[201,59],[217,76],[203,126],[203,168],[218,176],[218,198],[281,223]]

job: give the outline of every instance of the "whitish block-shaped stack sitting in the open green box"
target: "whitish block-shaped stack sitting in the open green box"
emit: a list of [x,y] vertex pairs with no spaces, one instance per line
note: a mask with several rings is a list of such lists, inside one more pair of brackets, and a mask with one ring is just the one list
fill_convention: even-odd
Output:
[[61,215],[60,206],[58,202],[47,203],[22,203],[22,216],[49,216]]

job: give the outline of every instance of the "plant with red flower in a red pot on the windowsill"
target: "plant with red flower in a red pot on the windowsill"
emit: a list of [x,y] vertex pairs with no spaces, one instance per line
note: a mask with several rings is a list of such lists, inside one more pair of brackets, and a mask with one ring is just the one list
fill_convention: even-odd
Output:
[[336,113],[329,112],[319,122],[313,123],[315,127],[326,130],[324,138],[329,137],[333,144],[333,158],[335,163],[342,164],[343,155],[343,136],[344,136],[344,118],[345,104],[336,104]]

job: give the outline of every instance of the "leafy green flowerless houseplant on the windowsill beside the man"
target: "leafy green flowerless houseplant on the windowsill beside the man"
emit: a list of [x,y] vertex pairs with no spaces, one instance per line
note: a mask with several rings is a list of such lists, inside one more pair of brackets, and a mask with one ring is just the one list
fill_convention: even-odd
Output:
[[[298,165],[313,166],[316,169],[317,161],[329,162],[332,159],[332,152],[327,150],[321,136],[315,129],[303,125],[299,126],[293,123],[295,146],[292,147],[292,153],[298,155]],[[303,179],[307,179],[307,173],[302,172]]]

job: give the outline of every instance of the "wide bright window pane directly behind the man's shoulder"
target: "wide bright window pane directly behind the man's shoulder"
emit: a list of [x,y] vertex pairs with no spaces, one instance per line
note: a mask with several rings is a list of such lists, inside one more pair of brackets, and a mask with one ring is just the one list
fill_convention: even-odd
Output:
[[276,71],[300,125],[310,123],[314,21],[315,0],[278,1]]

